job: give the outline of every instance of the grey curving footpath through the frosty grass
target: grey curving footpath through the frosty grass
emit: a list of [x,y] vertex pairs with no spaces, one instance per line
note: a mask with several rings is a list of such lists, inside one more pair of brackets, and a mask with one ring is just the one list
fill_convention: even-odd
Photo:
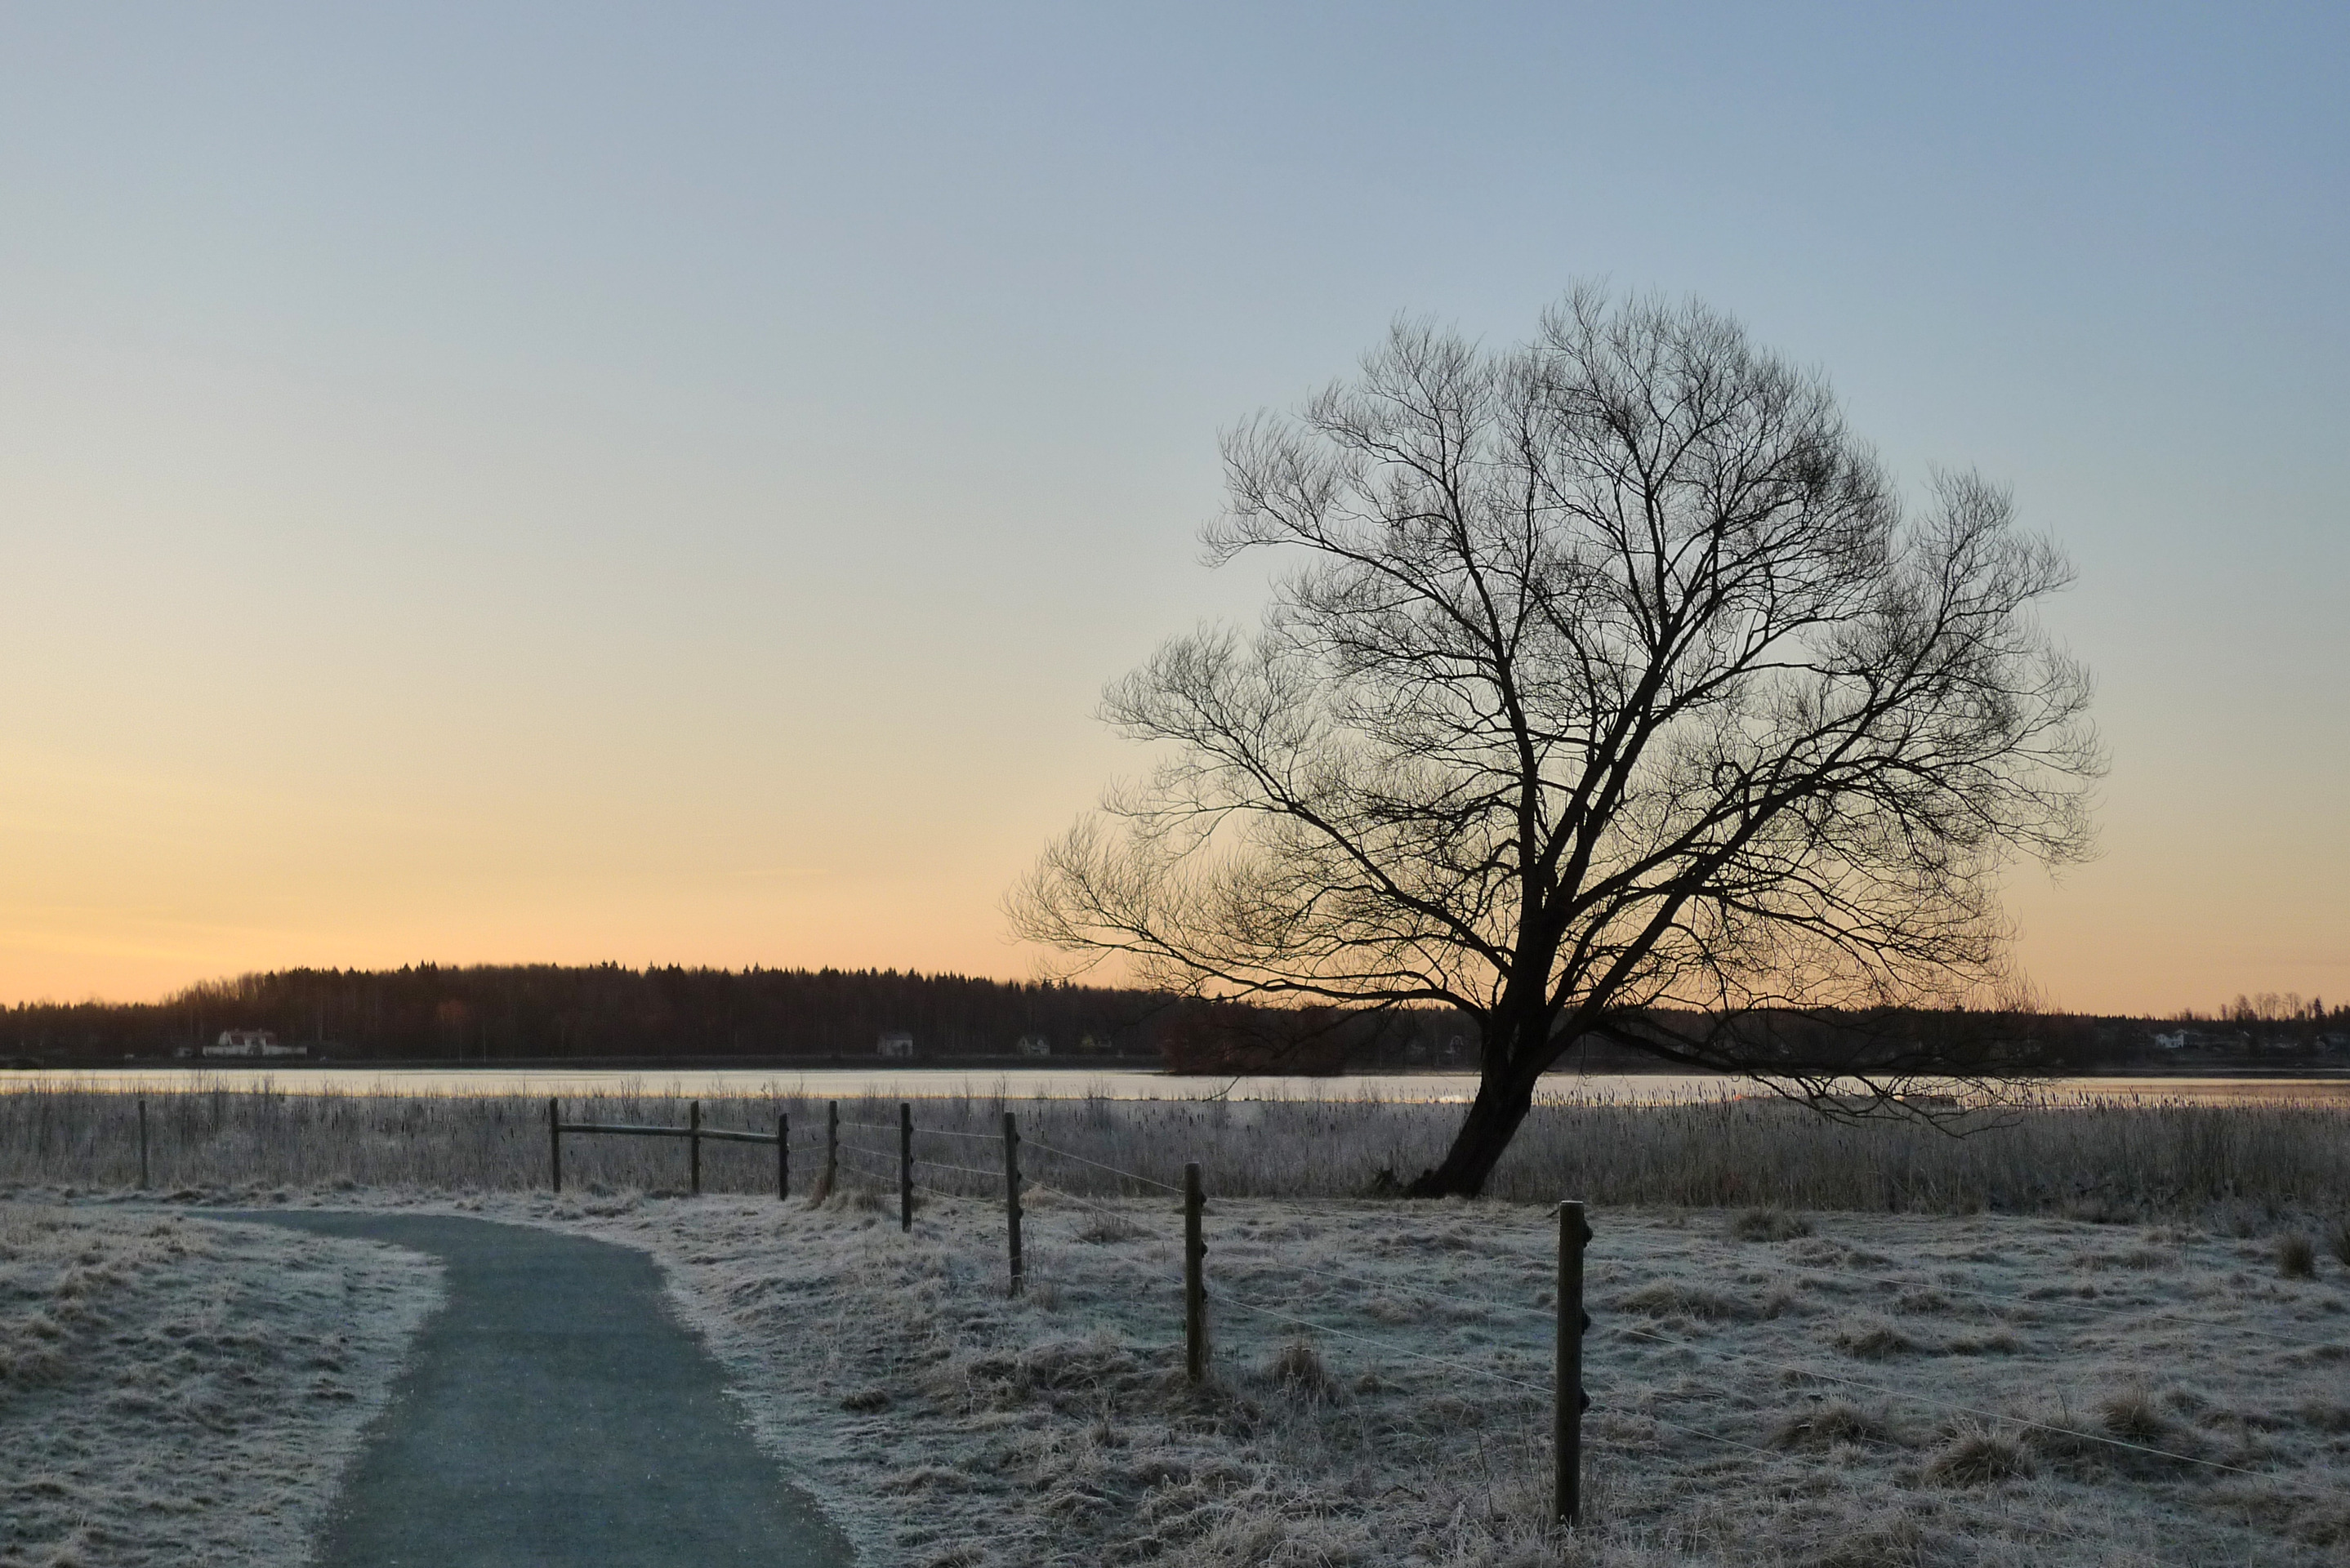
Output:
[[202,1218],[367,1237],[446,1265],[449,1302],[343,1479],[324,1568],[855,1563],[752,1443],[646,1253],[454,1215]]

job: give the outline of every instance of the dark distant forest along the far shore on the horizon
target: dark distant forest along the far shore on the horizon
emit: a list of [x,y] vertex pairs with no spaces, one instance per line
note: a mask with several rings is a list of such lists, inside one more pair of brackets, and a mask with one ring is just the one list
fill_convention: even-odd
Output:
[[[909,1034],[914,1060],[1152,1060],[1177,1072],[1473,1067],[1476,1027],[1450,1011],[1337,1013],[1180,999],[1067,983],[891,969],[439,966],[289,969],[193,985],[164,1001],[0,1011],[0,1058],[120,1063],[193,1053],[223,1030],[273,1030],[324,1060],[874,1058]],[[2350,1009],[2237,999],[2209,1018],[1875,1013],[1777,1018],[1788,1065],[1838,1065],[1894,1037],[1958,1060],[2040,1072],[2096,1067],[2350,1065]],[[1563,1072],[1664,1065],[1591,1044]]]

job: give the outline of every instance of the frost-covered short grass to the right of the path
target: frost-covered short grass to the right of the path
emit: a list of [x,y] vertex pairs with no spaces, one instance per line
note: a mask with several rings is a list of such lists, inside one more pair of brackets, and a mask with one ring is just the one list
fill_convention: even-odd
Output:
[[[2338,1563],[2350,1267],[2272,1234],[1596,1208],[1589,1519],[1546,1526],[1556,1222],[1215,1199],[1213,1380],[1173,1201],[310,1194],[653,1251],[761,1439],[928,1568]],[[237,1197],[235,1201],[249,1201]],[[2242,1229],[2242,1227],[2240,1227]],[[2113,1441],[2103,1441],[2113,1439]],[[2117,1443],[2129,1443],[2117,1446]]]

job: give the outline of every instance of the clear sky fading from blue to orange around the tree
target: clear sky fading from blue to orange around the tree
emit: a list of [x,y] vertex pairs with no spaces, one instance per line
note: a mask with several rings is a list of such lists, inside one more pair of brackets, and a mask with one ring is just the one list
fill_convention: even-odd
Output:
[[1579,280],[2080,583],[2056,1006],[2350,1001],[2350,9],[0,0],[0,1001],[1027,976],[1217,433]]

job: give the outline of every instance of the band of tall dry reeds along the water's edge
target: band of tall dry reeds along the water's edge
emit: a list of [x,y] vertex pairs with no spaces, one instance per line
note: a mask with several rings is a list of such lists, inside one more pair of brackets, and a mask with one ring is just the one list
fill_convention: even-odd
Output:
[[[139,1180],[132,1093],[26,1086],[0,1091],[0,1185],[122,1190]],[[150,1185],[533,1190],[548,1182],[545,1100],[510,1095],[350,1095],[270,1088],[148,1093]],[[1062,1159],[1062,1150],[1156,1182],[1201,1161],[1213,1192],[1351,1197],[1431,1164],[1457,1105],[1382,1100],[1003,1100],[914,1103],[916,1154],[994,1168],[994,1133],[1020,1117],[1034,1182],[1069,1192],[1147,1187]],[[705,1100],[707,1126],[771,1131],[792,1117],[794,1185],[822,1159],[825,1103],[776,1093]],[[566,1119],[684,1126],[665,1093],[564,1100]],[[844,1180],[893,1182],[895,1100],[841,1100]],[[677,1192],[682,1140],[564,1140],[566,1182]],[[985,1192],[989,1180],[924,1168],[926,1185]],[[705,1145],[710,1192],[768,1192],[773,1154]],[[1596,1204],[1781,1206],[1878,1213],[2073,1213],[2129,1220],[2207,1213],[2317,1213],[2350,1192],[2350,1114],[2272,1105],[2108,1105],[2030,1110],[1950,1135],[1915,1124],[1847,1126],[1767,1100],[1692,1105],[1544,1105],[1495,1171],[1492,1197]]]

